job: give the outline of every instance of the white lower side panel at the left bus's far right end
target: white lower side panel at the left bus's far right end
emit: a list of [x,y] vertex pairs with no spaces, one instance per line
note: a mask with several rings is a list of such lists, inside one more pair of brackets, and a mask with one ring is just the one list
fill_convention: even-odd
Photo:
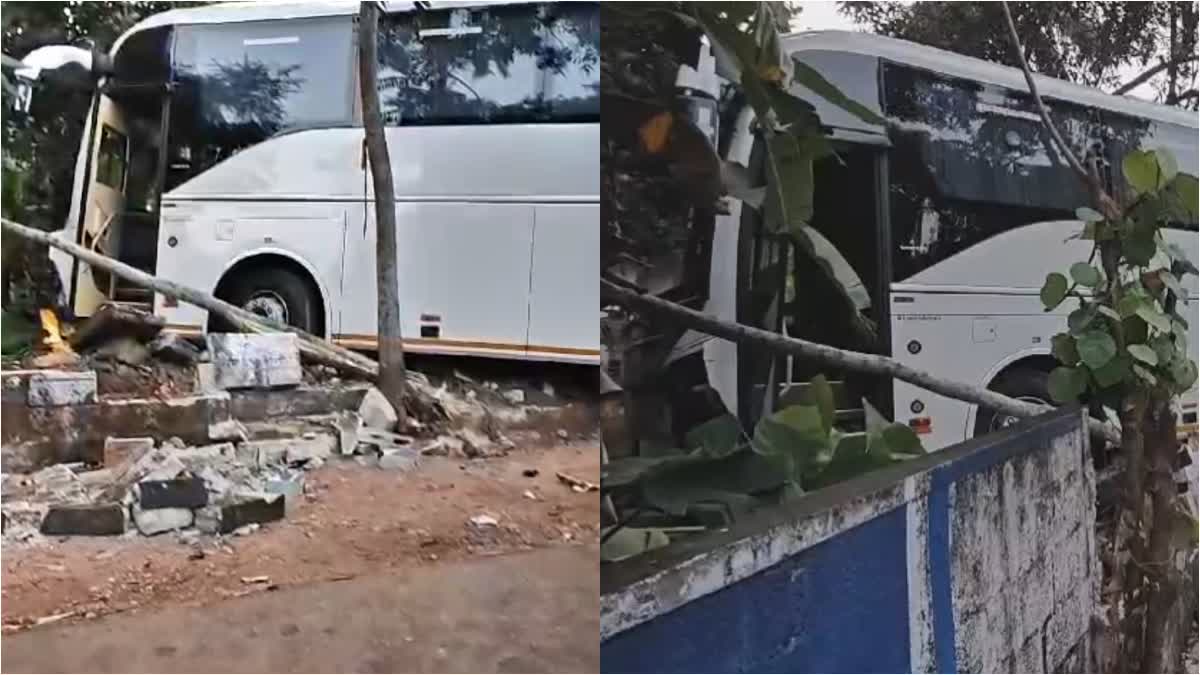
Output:
[[600,346],[600,207],[540,204],[529,275],[529,352],[566,350],[595,360]]

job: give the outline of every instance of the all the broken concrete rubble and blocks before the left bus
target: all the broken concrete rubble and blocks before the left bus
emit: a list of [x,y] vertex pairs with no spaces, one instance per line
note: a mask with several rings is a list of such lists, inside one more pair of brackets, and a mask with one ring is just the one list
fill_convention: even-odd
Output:
[[[22,459],[12,465],[18,466],[13,471],[24,472],[2,476],[6,545],[62,536],[179,532],[191,538],[253,532],[286,518],[304,501],[306,473],[328,461],[354,460],[380,471],[407,472],[428,455],[503,455],[516,444],[498,429],[539,410],[526,405],[528,398],[545,402],[539,389],[478,383],[458,372],[434,387],[425,375],[409,372],[409,386],[433,401],[436,410],[424,417],[409,414],[406,428],[397,429],[395,408],[367,384],[356,384],[361,398],[354,402],[342,395],[337,405],[323,405],[334,398],[322,399],[322,389],[312,387],[312,374],[301,368],[293,334],[209,334],[202,350],[161,330],[162,322],[144,312],[106,309],[72,335],[72,346],[85,352],[82,357],[72,353],[71,365],[91,364],[96,370],[61,366],[5,372],[6,406],[18,401],[30,410],[59,411],[54,414],[94,435],[88,441],[91,449],[72,450],[79,454],[66,454],[66,461],[58,459],[60,464],[50,466],[44,466],[44,459],[24,461],[25,437],[5,437],[6,462]],[[185,368],[190,388],[182,395],[104,398],[97,371],[104,371],[101,362],[139,368],[151,374],[151,381],[156,364],[169,362]],[[326,384],[332,380],[326,377]],[[340,380],[336,387],[330,392],[352,390]],[[263,398],[236,399],[245,392]],[[236,410],[235,399],[241,401]],[[298,406],[305,412],[296,413]],[[97,411],[127,423],[116,434],[103,425],[97,435],[92,418],[74,417]],[[319,414],[306,414],[312,411]],[[179,422],[163,422],[167,418]],[[46,435],[38,440],[42,447],[55,442],[61,447],[58,423],[53,429],[28,426]],[[97,447],[100,441],[102,447]],[[49,454],[54,460],[65,454],[56,452],[42,450],[38,456]],[[79,459],[86,462],[74,461]],[[44,468],[31,471],[37,466]],[[494,526],[488,518],[474,525]]]

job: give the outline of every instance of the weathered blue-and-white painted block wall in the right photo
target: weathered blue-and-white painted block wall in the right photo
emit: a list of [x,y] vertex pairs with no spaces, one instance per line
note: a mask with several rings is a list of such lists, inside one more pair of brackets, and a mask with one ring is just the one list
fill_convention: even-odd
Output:
[[1078,411],[602,568],[601,668],[1088,669],[1094,477]]

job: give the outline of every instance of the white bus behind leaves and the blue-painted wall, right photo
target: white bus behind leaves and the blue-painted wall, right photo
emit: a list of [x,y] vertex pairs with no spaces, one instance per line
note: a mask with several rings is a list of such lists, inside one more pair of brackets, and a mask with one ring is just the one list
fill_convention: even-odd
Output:
[[[1091,243],[1073,235],[1081,228],[1075,208],[1090,199],[1057,154],[1048,153],[1024,74],[868,34],[797,34],[784,44],[887,120],[864,123],[797,89],[817,106],[838,150],[816,167],[811,225],[860,277],[866,293],[859,307],[880,335],[865,342],[851,338],[842,305],[832,300],[822,275],[792,264],[791,244],[767,234],[757,211],[738,203],[730,215],[715,216],[710,265],[696,270],[707,275],[706,311],[1049,402],[1046,375],[1056,365],[1050,338],[1066,328],[1074,303],[1048,313],[1038,291],[1048,273],[1087,258]],[[1069,142],[1106,159],[1104,178],[1116,193],[1124,190],[1120,159],[1135,148],[1168,148],[1182,172],[1198,173],[1195,113],[1050,78],[1038,82]],[[761,166],[749,109],[727,104],[721,126],[725,156],[752,171]],[[1194,219],[1172,223],[1164,235],[1196,256]],[[1180,313],[1194,323],[1196,277],[1188,276],[1184,287],[1192,299]],[[1189,346],[1196,359],[1194,327]],[[673,359],[672,368],[691,370],[676,377],[707,380],[744,423],[822,371],[697,334],[680,339]],[[928,449],[1010,422],[899,381],[881,386],[847,376],[840,389],[845,401],[865,398],[890,410],[923,435]],[[1195,388],[1183,396],[1182,413],[1181,429],[1194,434]]]

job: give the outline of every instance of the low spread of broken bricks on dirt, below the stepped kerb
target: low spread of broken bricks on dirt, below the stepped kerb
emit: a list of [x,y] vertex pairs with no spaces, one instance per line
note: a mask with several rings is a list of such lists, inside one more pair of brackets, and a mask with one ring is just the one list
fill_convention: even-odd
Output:
[[5,474],[4,540],[246,532],[284,518],[305,496],[305,473],[332,458],[384,470],[409,470],[420,460],[410,437],[366,426],[355,411],[250,425],[227,420],[210,436],[220,440],[185,446],[112,437],[101,468],[59,464]]

